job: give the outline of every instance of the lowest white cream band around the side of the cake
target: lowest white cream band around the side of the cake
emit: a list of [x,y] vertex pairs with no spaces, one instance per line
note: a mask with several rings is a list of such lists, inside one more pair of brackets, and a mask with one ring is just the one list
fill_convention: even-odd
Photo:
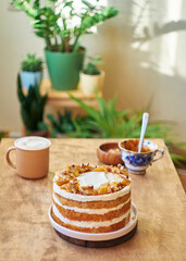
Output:
[[110,225],[116,224],[116,223],[121,222],[122,220],[124,220],[131,212],[131,209],[129,209],[124,215],[121,215],[120,217],[115,217],[115,219],[110,220],[110,221],[100,221],[100,222],[96,222],[96,221],[72,221],[72,220],[69,220],[69,219],[64,217],[59,212],[58,208],[54,204],[52,204],[52,208],[53,208],[54,215],[58,219],[60,219],[63,223],[74,225],[74,226],[90,227],[90,228],[92,228],[92,227],[98,228],[100,226],[110,226]]

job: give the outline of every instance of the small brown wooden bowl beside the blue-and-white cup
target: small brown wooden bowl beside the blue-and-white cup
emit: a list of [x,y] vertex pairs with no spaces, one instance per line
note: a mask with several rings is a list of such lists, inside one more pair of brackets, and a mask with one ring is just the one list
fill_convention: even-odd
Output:
[[108,142],[102,144],[97,149],[97,157],[98,159],[108,165],[117,165],[123,164],[123,160],[121,158],[121,153],[111,153],[109,150],[111,149],[119,149],[119,145],[116,142]]

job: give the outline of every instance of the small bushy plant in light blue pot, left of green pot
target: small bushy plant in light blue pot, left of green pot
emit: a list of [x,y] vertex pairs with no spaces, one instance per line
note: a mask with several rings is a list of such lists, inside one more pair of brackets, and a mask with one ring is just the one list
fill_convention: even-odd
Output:
[[42,59],[37,58],[34,53],[27,53],[26,59],[22,62],[21,79],[26,90],[36,84],[39,86],[42,80]]

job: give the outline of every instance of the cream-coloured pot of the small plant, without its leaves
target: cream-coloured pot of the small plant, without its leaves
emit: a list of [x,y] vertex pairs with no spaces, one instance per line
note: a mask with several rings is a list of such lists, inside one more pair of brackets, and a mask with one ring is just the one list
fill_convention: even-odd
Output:
[[80,89],[86,95],[95,94],[95,90],[102,90],[102,85],[104,82],[104,72],[101,71],[98,75],[88,75],[80,72]]

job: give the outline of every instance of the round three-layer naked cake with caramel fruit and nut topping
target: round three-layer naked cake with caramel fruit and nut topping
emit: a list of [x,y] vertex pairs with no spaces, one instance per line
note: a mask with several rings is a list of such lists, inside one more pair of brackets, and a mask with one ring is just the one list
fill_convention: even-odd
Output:
[[66,166],[54,175],[52,201],[52,217],[63,227],[114,232],[131,219],[131,181],[122,165]]

